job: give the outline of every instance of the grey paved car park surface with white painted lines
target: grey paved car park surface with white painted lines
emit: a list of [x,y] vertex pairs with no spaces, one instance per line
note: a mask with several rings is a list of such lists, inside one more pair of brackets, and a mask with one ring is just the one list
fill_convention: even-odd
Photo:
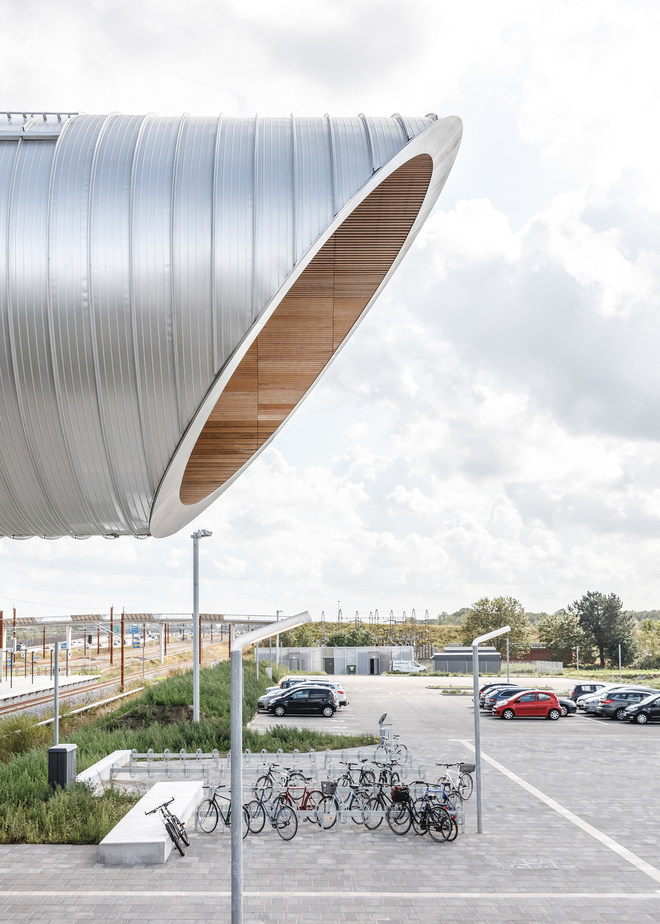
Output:
[[[333,719],[279,720],[351,731],[383,712],[413,749],[414,770],[471,759],[470,697],[407,677],[354,677]],[[566,684],[568,686],[568,684]],[[272,720],[255,719],[255,727]],[[245,920],[657,921],[660,726],[583,715],[482,719],[484,827],[474,797],[465,834],[435,844],[352,823],[301,824],[245,841]],[[229,837],[193,835],[165,867],[116,869],[94,847],[0,847],[0,921],[226,921]]]

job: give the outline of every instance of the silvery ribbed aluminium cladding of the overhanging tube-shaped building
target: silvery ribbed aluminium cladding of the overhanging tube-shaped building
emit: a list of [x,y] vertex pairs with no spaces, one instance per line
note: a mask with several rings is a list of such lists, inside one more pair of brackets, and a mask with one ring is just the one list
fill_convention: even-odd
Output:
[[435,116],[2,114],[0,534],[193,519],[219,491],[156,528],[154,501],[223,368],[354,203],[426,152],[416,233],[459,139]]

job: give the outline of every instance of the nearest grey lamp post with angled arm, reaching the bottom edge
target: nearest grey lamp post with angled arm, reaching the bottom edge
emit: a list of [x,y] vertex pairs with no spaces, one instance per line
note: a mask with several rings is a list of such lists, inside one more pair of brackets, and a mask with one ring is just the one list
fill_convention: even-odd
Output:
[[298,613],[245,632],[231,643],[231,924],[243,922],[243,649],[311,619],[307,611]]

